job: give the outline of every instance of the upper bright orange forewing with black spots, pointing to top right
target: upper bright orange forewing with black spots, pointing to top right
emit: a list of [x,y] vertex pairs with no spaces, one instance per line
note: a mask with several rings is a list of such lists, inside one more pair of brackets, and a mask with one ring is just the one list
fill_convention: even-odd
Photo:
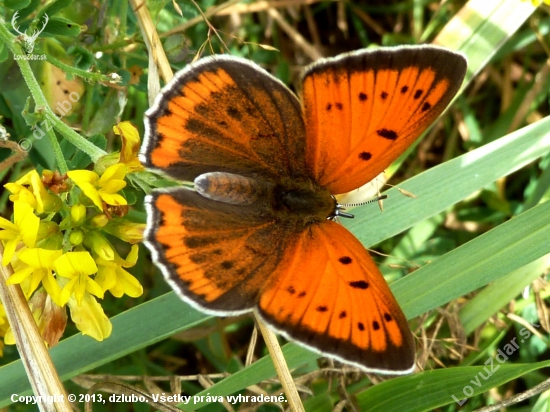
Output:
[[309,66],[302,95],[313,178],[332,194],[374,179],[445,110],[465,72],[461,54],[433,46],[360,50]]

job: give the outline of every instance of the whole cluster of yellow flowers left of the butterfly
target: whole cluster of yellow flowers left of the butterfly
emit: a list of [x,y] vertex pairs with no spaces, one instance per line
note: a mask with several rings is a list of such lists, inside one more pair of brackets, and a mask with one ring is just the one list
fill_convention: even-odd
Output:
[[[4,186],[14,213],[12,221],[0,217],[2,265],[11,264],[8,284],[21,286],[49,345],[65,329],[65,307],[83,334],[101,341],[110,335],[111,323],[97,299],[107,291],[117,298],[143,293],[126,269],[136,264],[144,225],[127,218],[128,204],[119,193],[126,175],[141,170],[139,135],[128,122],[115,126],[115,133],[122,138],[121,153],[106,156],[95,171],[62,176],[31,170]],[[126,257],[113,247],[111,236],[129,244]],[[2,336],[4,343],[13,343],[0,305]]]

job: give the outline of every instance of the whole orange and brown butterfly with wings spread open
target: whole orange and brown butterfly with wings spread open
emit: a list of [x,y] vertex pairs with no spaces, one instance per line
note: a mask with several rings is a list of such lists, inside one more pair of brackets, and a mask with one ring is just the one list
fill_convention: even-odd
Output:
[[407,320],[334,195],[372,180],[443,112],[465,58],[435,46],[319,60],[301,99],[225,55],[178,72],[146,112],[140,160],[194,189],[146,200],[146,244],[173,289],[221,316],[254,311],[364,371],[410,373]]

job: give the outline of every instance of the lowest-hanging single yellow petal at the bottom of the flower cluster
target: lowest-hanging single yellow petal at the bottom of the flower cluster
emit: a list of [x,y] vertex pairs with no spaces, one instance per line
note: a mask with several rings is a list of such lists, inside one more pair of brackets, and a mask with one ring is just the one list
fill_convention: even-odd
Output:
[[80,301],[71,297],[68,306],[71,319],[83,335],[91,336],[100,342],[111,335],[113,325],[92,295],[84,293]]

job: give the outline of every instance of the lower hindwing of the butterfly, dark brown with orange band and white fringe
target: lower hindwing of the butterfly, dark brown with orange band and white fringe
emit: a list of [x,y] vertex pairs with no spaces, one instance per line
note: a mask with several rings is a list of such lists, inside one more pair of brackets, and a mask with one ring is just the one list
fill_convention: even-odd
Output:
[[269,214],[189,189],[155,191],[147,206],[145,239],[155,262],[174,290],[212,313],[252,310],[291,243]]

